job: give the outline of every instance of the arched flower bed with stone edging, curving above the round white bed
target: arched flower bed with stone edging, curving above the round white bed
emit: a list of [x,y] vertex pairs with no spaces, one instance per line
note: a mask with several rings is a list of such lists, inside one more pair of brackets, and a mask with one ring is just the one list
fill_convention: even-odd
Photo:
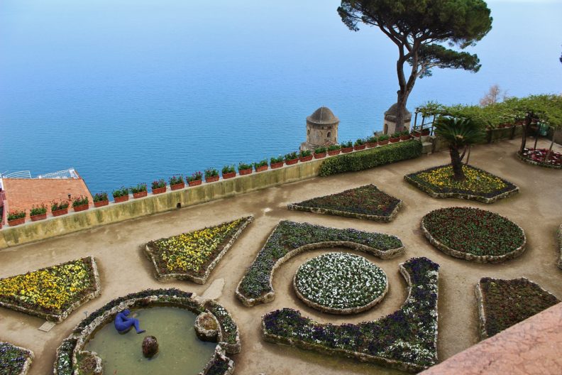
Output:
[[303,251],[326,247],[348,247],[381,259],[390,259],[404,252],[402,241],[388,234],[282,220],[238,283],[236,297],[246,306],[271,302],[275,298],[272,287],[275,269]]

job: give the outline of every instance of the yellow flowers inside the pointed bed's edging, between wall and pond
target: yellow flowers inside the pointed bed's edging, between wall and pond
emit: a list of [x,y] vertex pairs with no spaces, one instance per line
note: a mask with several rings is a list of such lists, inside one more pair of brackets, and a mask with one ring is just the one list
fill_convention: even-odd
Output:
[[247,218],[153,242],[162,268],[171,272],[204,271],[203,266]]

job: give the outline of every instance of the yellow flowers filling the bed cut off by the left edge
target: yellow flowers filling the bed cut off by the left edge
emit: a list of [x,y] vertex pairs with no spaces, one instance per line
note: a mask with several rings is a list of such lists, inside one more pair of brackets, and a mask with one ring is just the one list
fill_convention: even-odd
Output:
[[0,279],[0,300],[26,308],[60,312],[92,287],[91,259],[78,259],[24,275]]

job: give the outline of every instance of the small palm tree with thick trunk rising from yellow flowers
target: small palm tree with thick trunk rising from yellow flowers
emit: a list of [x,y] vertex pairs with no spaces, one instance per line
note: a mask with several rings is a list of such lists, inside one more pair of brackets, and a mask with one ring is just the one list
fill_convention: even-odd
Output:
[[[483,141],[484,131],[472,119],[441,116],[435,121],[435,135],[445,138],[449,143],[453,178],[457,181],[465,180],[462,162],[466,148]],[[459,152],[461,148],[465,149],[463,155]]]

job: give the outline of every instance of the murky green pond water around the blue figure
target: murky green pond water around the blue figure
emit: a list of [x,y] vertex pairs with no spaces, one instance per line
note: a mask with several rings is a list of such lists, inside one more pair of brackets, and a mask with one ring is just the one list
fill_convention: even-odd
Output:
[[[214,353],[214,342],[202,342],[195,335],[194,313],[181,308],[133,310],[146,332],[132,329],[120,335],[113,322],[95,333],[84,350],[97,352],[104,362],[106,375],[198,374]],[[143,357],[142,343],[147,335],[158,339],[160,350],[152,359]]]

